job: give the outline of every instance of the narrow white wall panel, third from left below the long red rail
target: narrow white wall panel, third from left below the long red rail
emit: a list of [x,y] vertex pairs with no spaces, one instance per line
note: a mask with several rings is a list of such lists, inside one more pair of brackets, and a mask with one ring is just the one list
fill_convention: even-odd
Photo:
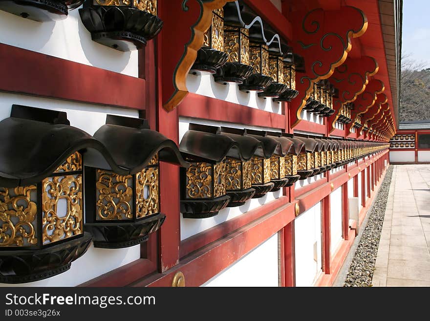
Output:
[[342,237],[342,188],[330,194],[330,252],[334,254]]

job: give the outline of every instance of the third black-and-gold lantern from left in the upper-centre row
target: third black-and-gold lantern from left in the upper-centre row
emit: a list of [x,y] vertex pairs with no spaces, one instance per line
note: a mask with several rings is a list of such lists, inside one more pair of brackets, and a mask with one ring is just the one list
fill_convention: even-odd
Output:
[[249,29],[249,64],[253,67],[253,74],[239,85],[239,89],[246,92],[261,92],[273,82],[272,77],[269,76],[269,46],[266,44],[267,40],[259,17],[246,27]]

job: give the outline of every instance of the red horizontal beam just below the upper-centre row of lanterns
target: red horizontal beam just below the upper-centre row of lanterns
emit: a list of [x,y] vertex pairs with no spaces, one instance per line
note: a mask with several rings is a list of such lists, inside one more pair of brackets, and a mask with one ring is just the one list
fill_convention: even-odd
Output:
[[190,93],[178,106],[179,116],[269,128],[285,128],[285,116]]

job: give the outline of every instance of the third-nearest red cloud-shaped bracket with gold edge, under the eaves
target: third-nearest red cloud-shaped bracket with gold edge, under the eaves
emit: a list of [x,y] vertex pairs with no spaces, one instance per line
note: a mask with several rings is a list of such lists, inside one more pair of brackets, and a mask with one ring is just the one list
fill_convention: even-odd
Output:
[[356,100],[368,84],[368,77],[378,72],[379,66],[372,57],[347,58],[344,64],[337,67],[329,81],[339,90],[339,97],[333,98],[333,109],[336,111],[328,117],[328,132],[335,129],[343,104]]

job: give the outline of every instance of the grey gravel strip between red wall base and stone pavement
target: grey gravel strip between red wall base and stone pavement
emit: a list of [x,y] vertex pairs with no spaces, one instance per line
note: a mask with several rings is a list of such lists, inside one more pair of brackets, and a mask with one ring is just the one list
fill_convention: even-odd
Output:
[[357,251],[349,265],[344,286],[371,286],[372,284],[392,173],[393,166],[390,165],[370,210]]

